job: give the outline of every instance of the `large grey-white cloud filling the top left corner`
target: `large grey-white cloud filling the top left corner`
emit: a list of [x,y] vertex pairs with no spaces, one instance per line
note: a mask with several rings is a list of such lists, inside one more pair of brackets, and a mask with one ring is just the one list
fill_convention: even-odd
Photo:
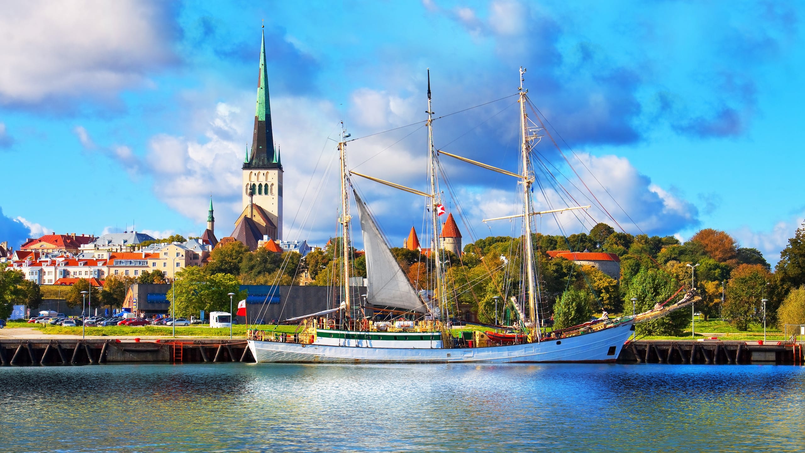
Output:
[[175,64],[179,34],[163,2],[3,2],[0,104],[110,98]]

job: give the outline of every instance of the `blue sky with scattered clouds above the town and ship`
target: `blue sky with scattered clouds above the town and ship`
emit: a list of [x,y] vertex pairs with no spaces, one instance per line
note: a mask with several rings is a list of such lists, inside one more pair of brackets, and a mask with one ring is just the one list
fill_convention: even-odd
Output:
[[[254,121],[261,19],[286,239],[334,234],[328,137],[341,120],[353,137],[422,120],[426,68],[439,116],[514,94],[525,66],[552,135],[631,233],[686,239],[712,227],[776,262],[805,215],[795,2],[48,5],[0,6],[0,60],[10,69],[0,71],[0,240],[17,245],[43,231],[100,234],[132,222],[154,235],[198,235],[210,194],[217,235],[228,235]],[[516,170],[513,101],[436,121],[436,147]],[[350,166],[424,189],[418,127],[349,143]],[[572,175],[550,140],[538,149]],[[513,182],[443,164],[462,230],[510,233],[479,221],[512,214]],[[356,184],[395,244],[422,225],[422,200]],[[563,215],[565,231],[588,229]],[[559,231],[552,218],[539,226]]]

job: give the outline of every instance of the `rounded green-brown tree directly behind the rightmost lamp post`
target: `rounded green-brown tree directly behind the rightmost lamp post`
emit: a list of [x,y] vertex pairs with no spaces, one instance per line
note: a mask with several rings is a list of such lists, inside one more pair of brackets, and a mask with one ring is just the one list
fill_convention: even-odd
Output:
[[[727,284],[724,317],[738,330],[746,330],[749,322],[762,313],[761,300],[769,295],[770,283],[771,274],[761,264],[741,264],[735,268]],[[766,310],[776,311],[774,306],[767,306]]]

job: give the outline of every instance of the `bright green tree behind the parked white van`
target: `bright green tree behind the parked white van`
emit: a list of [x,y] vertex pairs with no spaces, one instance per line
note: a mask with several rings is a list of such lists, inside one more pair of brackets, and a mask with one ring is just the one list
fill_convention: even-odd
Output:
[[176,272],[175,281],[168,293],[172,296],[175,289],[176,316],[189,317],[197,316],[200,310],[228,312],[228,293],[235,293],[235,302],[246,295],[246,292],[240,290],[240,285],[237,276],[232,274],[221,272],[211,275],[197,266],[190,266]]

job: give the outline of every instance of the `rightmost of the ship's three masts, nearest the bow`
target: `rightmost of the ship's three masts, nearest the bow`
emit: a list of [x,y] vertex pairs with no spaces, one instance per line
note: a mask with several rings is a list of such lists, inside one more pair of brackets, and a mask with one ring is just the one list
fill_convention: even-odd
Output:
[[537,314],[537,285],[534,272],[534,245],[531,239],[531,185],[535,181],[535,177],[528,171],[529,155],[531,151],[531,140],[535,139],[535,135],[528,133],[528,116],[526,115],[526,93],[527,89],[523,89],[522,82],[524,81],[522,75],[526,73],[526,69],[520,67],[520,129],[522,133],[522,209],[523,209],[523,225],[525,226],[525,237],[523,238],[524,255],[526,256],[526,280],[528,281],[528,308],[530,311],[530,321],[534,323],[534,329],[537,338],[540,336],[539,329],[539,315]]

